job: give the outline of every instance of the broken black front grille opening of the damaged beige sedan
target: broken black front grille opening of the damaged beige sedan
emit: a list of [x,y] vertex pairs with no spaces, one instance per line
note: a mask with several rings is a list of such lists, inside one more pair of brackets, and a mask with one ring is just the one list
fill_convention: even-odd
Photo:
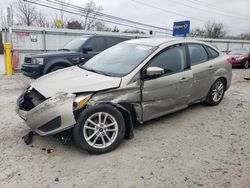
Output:
[[45,101],[46,98],[37,90],[27,90],[17,100],[17,105],[21,110],[29,111]]

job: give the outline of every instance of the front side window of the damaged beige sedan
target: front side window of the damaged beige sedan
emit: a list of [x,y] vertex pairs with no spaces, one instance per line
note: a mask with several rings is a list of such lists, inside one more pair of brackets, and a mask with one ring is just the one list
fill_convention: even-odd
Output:
[[175,73],[186,69],[186,53],[184,46],[173,46],[154,57],[149,67],[161,67],[165,73]]

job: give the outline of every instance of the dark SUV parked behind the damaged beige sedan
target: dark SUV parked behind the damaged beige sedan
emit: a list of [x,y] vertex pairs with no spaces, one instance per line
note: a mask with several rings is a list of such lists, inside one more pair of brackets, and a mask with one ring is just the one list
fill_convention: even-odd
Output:
[[27,55],[21,70],[26,76],[38,78],[58,69],[85,63],[103,50],[129,39],[119,36],[81,36],[56,52]]

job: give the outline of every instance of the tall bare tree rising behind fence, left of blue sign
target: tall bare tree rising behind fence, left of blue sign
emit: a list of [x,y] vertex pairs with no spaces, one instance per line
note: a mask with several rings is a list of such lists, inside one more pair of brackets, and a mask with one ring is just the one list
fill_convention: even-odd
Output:
[[86,6],[85,10],[82,11],[82,16],[84,17],[83,29],[90,30],[91,27],[96,22],[96,16],[99,12],[103,10],[102,6],[97,6],[93,0],[90,0]]

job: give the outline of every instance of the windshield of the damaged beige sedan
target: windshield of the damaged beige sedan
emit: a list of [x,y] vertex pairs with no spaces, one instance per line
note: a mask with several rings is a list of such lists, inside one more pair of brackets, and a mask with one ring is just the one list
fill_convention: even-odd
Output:
[[80,67],[109,76],[122,77],[134,70],[156,47],[119,44],[96,55]]

